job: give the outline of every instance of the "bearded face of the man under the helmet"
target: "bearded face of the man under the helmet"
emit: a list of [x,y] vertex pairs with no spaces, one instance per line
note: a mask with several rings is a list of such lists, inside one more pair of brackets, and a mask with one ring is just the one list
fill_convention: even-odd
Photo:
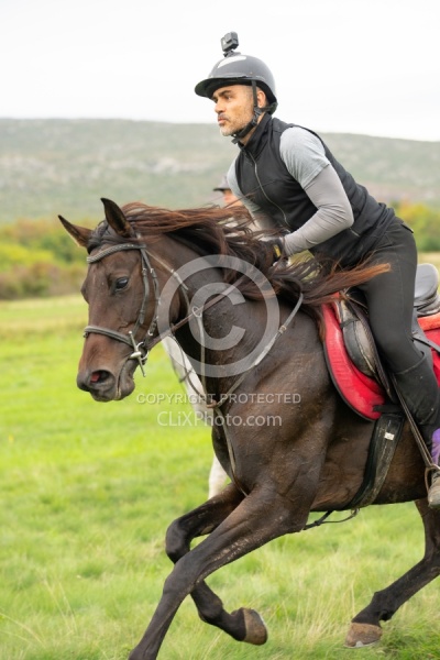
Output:
[[220,87],[213,92],[212,100],[222,135],[233,135],[252,121],[254,103],[250,86]]

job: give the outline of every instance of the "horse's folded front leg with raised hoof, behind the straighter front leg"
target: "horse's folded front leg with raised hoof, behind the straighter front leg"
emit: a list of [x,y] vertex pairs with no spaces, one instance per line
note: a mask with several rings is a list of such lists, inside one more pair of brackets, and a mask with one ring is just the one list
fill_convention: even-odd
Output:
[[[243,495],[230,484],[217,497],[208,501],[189,514],[175,520],[166,535],[166,553],[176,563],[189,552],[190,542],[199,536],[211,532],[240,504]],[[267,639],[266,628],[260,615],[246,608],[229,614],[223,609],[219,596],[200,582],[191,592],[201,620],[224,630],[238,641],[261,645]]]

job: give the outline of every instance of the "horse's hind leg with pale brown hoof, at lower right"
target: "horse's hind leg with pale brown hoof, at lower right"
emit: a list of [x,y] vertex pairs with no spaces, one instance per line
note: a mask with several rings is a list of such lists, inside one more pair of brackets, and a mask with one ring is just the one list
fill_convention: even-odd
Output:
[[377,641],[381,620],[387,622],[414,594],[440,574],[440,512],[428,507],[426,499],[416,502],[425,527],[425,556],[405,575],[376,592],[367,607],[352,619],[345,645],[361,647]]

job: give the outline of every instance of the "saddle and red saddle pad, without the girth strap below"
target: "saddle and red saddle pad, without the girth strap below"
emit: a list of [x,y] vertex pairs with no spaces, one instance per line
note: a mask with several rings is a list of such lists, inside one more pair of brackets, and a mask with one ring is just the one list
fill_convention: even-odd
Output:
[[[413,337],[428,356],[440,384],[439,274],[432,264],[417,268]],[[364,306],[348,293],[322,308],[324,354],[333,384],[361,417],[378,419],[395,403],[393,387],[378,356]]]

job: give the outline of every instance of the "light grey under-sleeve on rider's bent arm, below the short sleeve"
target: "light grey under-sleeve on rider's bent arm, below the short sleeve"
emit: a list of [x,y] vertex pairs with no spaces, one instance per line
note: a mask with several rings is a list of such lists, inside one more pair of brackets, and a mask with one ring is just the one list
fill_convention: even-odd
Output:
[[328,241],[354,221],[349,198],[332,165],[321,169],[305,190],[317,211],[302,227],[285,237],[288,256]]

